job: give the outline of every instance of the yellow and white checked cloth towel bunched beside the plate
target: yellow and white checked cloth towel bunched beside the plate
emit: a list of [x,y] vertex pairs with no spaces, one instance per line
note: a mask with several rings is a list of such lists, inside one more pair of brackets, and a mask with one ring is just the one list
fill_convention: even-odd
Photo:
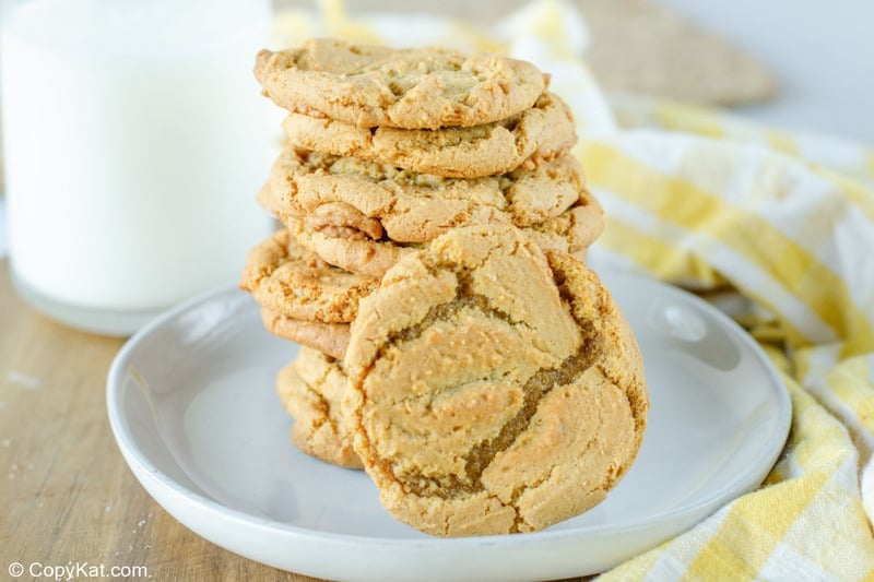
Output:
[[748,306],[730,302],[792,400],[782,456],[759,489],[604,580],[874,581],[874,152],[717,110],[607,100],[570,4],[524,10],[492,31],[430,19],[409,34],[411,21],[353,20],[326,0],[321,13],[281,15],[276,44],[330,34],[533,60],[575,109],[575,153],[605,209],[592,262]]

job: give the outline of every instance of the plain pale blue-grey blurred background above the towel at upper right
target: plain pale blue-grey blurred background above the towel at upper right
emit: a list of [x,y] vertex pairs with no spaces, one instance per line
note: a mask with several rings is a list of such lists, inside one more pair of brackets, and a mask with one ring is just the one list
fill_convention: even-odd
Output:
[[[736,114],[874,147],[874,1],[659,1],[755,55],[778,78],[773,100]],[[5,251],[0,199],[0,257]]]

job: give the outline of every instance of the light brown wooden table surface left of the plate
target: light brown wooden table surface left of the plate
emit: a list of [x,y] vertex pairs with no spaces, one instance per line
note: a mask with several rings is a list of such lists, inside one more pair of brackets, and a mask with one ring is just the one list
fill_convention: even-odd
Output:
[[122,343],[33,311],[0,261],[0,580],[13,562],[27,580],[31,565],[83,563],[141,566],[153,580],[314,580],[206,542],[140,486],[106,415]]

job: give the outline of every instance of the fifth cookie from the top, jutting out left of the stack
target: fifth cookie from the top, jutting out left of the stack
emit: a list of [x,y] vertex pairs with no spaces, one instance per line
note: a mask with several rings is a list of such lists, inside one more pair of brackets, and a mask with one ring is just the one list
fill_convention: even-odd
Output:
[[240,288],[262,305],[293,319],[326,323],[355,319],[358,301],[379,285],[319,259],[285,229],[249,251]]

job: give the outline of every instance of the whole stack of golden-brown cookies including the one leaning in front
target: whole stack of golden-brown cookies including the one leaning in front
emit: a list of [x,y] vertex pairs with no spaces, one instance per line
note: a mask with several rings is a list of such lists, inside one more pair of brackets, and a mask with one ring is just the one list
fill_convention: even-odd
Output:
[[240,286],[302,346],[277,379],[295,446],[364,467],[392,514],[437,535],[539,530],[600,501],[647,397],[634,337],[579,260],[602,210],[548,79],[329,39],[262,51],[255,72],[290,111],[259,193],[284,228]]

